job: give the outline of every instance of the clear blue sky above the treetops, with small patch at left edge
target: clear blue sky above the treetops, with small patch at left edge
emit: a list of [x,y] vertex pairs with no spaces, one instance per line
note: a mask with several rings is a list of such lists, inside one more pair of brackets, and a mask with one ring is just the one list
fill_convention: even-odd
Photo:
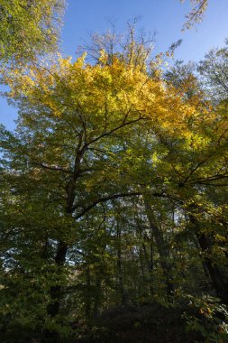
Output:
[[[196,29],[181,32],[189,1],[180,5],[179,0],[68,0],[62,32],[61,50],[75,56],[78,45],[89,41],[93,32],[102,33],[115,24],[117,32],[124,32],[126,23],[141,16],[139,29],[157,32],[156,51],[166,51],[172,42],[183,39],[176,51],[178,60],[200,60],[205,53],[223,46],[228,36],[228,0],[209,0],[204,20]],[[14,129],[17,110],[0,98],[0,122]]]

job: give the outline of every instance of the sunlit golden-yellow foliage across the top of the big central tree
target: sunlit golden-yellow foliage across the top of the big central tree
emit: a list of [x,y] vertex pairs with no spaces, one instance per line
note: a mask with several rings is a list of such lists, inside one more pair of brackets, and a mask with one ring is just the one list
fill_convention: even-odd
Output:
[[83,54],[72,62],[59,56],[50,66],[43,63],[24,73],[14,70],[7,76],[12,97],[27,97],[30,104],[45,106],[44,116],[79,113],[91,122],[93,132],[104,121],[107,130],[116,123],[146,121],[154,130],[185,137],[195,148],[208,144],[200,133],[192,134],[189,125],[191,119],[197,131],[205,108],[201,110],[198,100],[184,101],[178,89],[160,79],[159,72],[152,78],[140,66],[117,58],[106,64],[105,51],[101,51],[102,63],[90,65],[85,58]]

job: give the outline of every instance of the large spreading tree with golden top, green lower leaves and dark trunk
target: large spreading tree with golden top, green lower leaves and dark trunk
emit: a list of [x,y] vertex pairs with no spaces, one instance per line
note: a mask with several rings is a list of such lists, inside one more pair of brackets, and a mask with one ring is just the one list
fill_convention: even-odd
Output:
[[227,301],[226,109],[129,51],[5,76],[20,106],[17,133],[1,128],[6,337],[70,337],[120,303],[200,297],[214,273],[206,292]]

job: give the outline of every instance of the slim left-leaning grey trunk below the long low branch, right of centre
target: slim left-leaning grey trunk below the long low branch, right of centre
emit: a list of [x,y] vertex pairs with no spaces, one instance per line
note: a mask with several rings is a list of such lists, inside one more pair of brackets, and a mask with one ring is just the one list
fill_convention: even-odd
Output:
[[153,210],[150,205],[150,195],[145,194],[143,197],[146,215],[149,220],[150,230],[154,236],[156,246],[160,255],[160,265],[166,278],[167,291],[169,294],[173,292],[173,283],[170,276],[171,266],[169,264],[169,248],[166,244],[164,236],[160,230],[160,227],[156,225],[155,218],[153,216]]

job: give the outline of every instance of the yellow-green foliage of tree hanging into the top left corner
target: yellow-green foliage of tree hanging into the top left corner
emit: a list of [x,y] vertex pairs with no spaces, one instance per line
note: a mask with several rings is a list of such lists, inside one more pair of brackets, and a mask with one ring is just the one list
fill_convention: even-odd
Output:
[[56,51],[64,0],[0,1],[0,60],[34,60]]

